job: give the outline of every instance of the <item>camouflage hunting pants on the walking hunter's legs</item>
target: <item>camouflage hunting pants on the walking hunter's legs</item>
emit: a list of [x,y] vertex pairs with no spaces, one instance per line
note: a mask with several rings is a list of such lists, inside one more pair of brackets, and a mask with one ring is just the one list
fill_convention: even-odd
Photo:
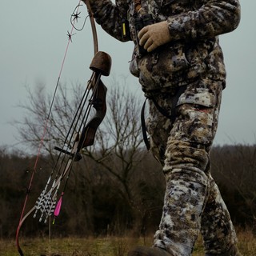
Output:
[[[171,110],[174,92],[155,100]],[[154,246],[173,256],[192,254],[201,230],[206,254],[221,254],[236,242],[230,214],[210,175],[209,151],[218,125],[221,82],[202,79],[187,86],[173,126],[150,101],[150,149],[162,163],[166,194]]]

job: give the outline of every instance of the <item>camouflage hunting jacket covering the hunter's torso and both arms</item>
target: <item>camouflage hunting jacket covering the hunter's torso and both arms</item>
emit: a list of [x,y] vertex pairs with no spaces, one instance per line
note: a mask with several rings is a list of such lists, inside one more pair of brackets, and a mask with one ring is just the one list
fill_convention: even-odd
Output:
[[[134,0],[90,2],[103,30],[122,42],[134,42],[130,72],[139,78],[142,90],[182,86],[200,76],[221,80],[225,87],[226,70],[218,35],[238,26],[238,0],[141,0],[143,12],[151,14],[154,22],[168,22],[171,37],[166,45],[143,55],[138,54]],[[122,37],[124,19],[130,28],[126,38]]]

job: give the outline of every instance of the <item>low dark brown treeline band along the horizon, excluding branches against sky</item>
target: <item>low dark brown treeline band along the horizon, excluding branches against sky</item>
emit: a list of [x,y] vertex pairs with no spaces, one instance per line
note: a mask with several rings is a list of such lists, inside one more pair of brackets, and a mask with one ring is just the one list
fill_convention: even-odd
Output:
[[[256,146],[214,146],[210,157],[212,174],[234,223],[254,227]],[[14,238],[26,194],[25,214],[46,185],[54,162],[50,154],[40,158],[33,186],[27,191],[34,161],[35,157],[0,149],[0,238]],[[133,154],[136,164],[131,168],[123,167],[130,162],[130,152],[122,159],[110,154],[101,161],[107,165],[84,155],[74,163],[61,214],[51,225],[52,235],[144,235],[158,228],[165,191],[158,162],[140,149]],[[22,235],[48,234],[52,218],[43,224],[32,215],[24,222]]]

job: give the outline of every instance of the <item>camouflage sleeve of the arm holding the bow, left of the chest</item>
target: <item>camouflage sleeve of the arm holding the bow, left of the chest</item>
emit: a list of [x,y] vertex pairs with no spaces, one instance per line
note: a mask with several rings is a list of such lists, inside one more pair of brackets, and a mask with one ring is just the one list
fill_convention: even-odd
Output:
[[96,22],[102,29],[119,41],[130,41],[122,38],[122,20],[127,18],[128,6],[126,0],[90,0],[91,9]]

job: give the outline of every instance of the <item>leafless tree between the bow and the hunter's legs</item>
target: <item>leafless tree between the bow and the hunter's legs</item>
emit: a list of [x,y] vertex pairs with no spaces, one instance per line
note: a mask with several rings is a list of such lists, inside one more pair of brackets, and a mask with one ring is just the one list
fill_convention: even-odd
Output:
[[[108,99],[106,120],[99,128],[96,146],[86,148],[84,154],[102,165],[115,182],[122,185],[119,192],[124,199],[131,201],[130,182],[135,167],[145,157],[142,129],[139,119],[140,104],[138,96],[127,90],[126,84],[119,86],[114,81]],[[135,184],[137,185],[137,184]]]

